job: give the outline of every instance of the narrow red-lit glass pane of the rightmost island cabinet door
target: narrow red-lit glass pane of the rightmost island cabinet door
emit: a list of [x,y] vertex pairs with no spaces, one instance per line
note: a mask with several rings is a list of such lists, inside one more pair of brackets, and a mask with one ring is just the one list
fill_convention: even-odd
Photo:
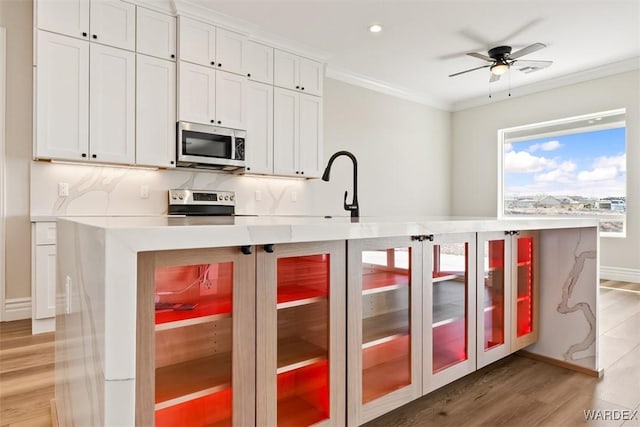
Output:
[[533,331],[533,237],[518,237],[518,337]]

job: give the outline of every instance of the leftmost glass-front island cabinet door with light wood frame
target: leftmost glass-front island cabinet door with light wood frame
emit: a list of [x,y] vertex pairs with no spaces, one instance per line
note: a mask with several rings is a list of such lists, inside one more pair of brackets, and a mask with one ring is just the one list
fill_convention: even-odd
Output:
[[153,390],[139,390],[153,404],[150,424],[254,423],[251,257],[239,248],[163,251],[141,254],[139,270],[137,369]]

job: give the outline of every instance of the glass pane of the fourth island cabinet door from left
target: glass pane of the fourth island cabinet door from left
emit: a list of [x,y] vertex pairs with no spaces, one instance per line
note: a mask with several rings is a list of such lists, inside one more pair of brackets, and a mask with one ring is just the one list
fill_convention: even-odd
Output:
[[433,247],[433,373],[467,360],[468,243]]

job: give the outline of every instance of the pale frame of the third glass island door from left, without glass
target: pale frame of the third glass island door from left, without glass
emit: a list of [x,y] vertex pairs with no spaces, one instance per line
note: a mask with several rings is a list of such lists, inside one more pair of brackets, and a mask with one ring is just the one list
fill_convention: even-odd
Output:
[[[393,248],[411,250],[410,342],[411,384],[362,403],[362,252]],[[422,390],[422,245],[410,236],[347,241],[347,425],[356,426],[385,414],[421,395]]]

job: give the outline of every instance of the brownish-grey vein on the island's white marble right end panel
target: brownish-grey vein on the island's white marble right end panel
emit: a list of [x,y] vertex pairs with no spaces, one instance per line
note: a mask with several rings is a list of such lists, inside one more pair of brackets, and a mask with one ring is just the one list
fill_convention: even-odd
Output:
[[578,279],[584,270],[584,263],[588,259],[595,260],[597,257],[597,253],[595,250],[583,250],[578,252],[578,248],[582,242],[582,233],[578,236],[578,242],[576,243],[575,250],[575,262],[569,276],[564,281],[562,286],[562,301],[558,304],[558,313],[561,314],[569,314],[575,311],[580,311],[584,315],[585,320],[589,324],[589,332],[584,337],[584,339],[578,343],[572,344],[569,346],[567,351],[563,353],[563,357],[566,361],[575,360],[575,354],[579,351],[583,351],[592,346],[596,341],[596,316],[593,312],[593,309],[589,305],[588,302],[581,301],[577,302],[573,305],[570,305],[570,298],[573,295],[574,288],[578,283]]

